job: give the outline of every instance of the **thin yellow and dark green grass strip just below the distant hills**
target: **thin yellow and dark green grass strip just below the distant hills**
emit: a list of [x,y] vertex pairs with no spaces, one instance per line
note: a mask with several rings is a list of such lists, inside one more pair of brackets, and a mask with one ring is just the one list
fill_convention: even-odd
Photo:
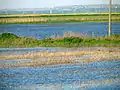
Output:
[[[112,13],[112,15],[119,16],[120,12]],[[61,16],[108,16],[108,13],[73,13],[73,14],[5,14],[0,15],[0,18],[13,17],[61,17]]]

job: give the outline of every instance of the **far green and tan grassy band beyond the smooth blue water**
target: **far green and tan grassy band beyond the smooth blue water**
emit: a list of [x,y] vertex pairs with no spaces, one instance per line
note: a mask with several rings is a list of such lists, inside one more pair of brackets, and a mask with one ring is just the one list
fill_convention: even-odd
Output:
[[[112,21],[120,22],[120,13],[112,13]],[[40,24],[61,22],[108,22],[108,13],[0,15],[0,24]]]

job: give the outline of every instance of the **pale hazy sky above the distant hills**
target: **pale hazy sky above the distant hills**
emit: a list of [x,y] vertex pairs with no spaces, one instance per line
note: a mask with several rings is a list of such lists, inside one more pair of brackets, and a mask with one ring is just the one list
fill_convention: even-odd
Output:
[[[0,8],[43,8],[64,5],[107,4],[109,0],[0,0]],[[120,4],[120,0],[113,0]]]

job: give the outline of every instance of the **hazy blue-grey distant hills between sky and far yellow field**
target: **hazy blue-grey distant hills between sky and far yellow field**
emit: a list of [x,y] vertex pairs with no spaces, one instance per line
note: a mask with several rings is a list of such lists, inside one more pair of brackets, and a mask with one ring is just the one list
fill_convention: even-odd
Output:
[[[53,8],[22,8],[22,9],[1,9],[0,14],[69,14],[69,13],[94,13],[108,12],[108,4],[97,5],[72,5]],[[120,5],[112,5],[112,12],[120,12]]]

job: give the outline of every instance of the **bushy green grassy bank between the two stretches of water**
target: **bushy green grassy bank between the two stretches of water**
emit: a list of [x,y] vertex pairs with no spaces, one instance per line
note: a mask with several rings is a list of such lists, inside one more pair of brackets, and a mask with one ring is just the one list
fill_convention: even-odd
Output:
[[57,39],[37,40],[18,37],[11,33],[0,34],[1,48],[15,47],[81,47],[81,46],[120,46],[120,35],[99,38],[61,37]]

